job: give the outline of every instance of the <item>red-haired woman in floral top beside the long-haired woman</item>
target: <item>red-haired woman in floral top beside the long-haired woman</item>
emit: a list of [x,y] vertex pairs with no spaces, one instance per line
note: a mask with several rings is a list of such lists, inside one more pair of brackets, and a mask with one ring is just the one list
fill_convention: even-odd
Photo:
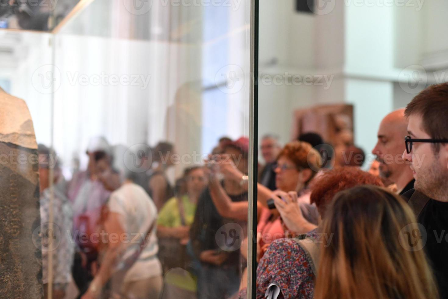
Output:
[[[339,191],[354,186],[383,186],[381,180],[358,167],[336,168],[316,178],[311,186],[311,202],[315,203],[319,213],[325,218],[327,206]],[[286,199],[282,196],[282,199]],[[289,199],[291,200],[291,198]],[[299,238],[304,243],[321,242],[319,228]],[[299,238],[282,238],[275,240],[267,248],[257,268],[256,298],[265,298],[270,293],[280,291],[277,298],[311,299],[314,292],[315,268],[313,257],[318,252],[317,246],[304,246],[297,242]],[[311,251],[310,251],[311,249]],[[246,298],[246,289],[241,289],[239,298]]]

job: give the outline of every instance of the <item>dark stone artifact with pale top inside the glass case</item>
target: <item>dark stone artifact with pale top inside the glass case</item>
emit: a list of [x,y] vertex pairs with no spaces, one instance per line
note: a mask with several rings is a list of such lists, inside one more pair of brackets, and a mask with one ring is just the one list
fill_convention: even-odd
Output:
[[[42,298],[39,164],[25,101],[0,88],[0,298]],[[36,245],[35,245],[36,244]]]

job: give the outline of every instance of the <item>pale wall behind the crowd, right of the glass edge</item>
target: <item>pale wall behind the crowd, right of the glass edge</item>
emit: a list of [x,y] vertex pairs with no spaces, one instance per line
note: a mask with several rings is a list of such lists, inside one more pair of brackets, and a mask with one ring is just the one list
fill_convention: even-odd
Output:
[[[361,2],[378,5],[356,4]],[[425,82],[437,82],[433,71],[440,78],[448,68],[448,2],[423,1],[422,7],[382,3],[337,1],[330,13],[315,15],[295,13],[292,1],[283,8],[260,1],[260,70],[334,75],[325,89],[260,86],[260,135],[276,132],[288,141],[291,121],[285,116],[293,109],[345,102],[355,105],[355,143],[370,152],[382,117],[409,103]],[[278,65],[264,67],[268,57],[276,56]],[[414,65],[426,72],[418,73],[424,80],[409,91],[406,75],[422,68]]]

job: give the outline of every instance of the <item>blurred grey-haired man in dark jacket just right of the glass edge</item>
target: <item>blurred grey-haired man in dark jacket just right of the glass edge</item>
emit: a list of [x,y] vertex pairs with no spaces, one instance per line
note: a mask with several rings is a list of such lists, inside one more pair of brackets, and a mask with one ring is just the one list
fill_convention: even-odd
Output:
[[261,139],[260,150],[265,165],[260,171],[258,182],[266,186],[270,190],[276,190],[276,173],[273,166],[275,165],[278,154],[282,147],[280,138],[275,134],[266,134]]

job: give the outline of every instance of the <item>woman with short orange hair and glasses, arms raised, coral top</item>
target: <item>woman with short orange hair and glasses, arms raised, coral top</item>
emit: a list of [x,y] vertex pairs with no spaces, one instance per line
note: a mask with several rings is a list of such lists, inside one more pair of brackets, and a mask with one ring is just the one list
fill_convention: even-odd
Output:
[[[274,166],[278,190],[270,191],[265,186],[258,184],[257,232],[259,234],[258,245],[262,249],[260,253],[263,252],[263,247],[267,247],[275,239],[285,237],[285,226],[294,233],[306,233],[316,227],[319,212],[315,205],[310,204],[310,193],[307,187],[319,169],[319,162],[319,153],[309,143],[290,142],[281,150]],[[225,177],[240,180],[241,185],[247,189],[247,179],[244,179],[243,173],[233,163],[221,161],[218,166],[219,172]],[[247,202],[232,202],[213,174],[209,188],[213,203],[221,216],[247,220]],[[279,202],[281,201],[280,196],[288,192],[291,192],[295,204],[286,204],[281,207],[277,204],[277,209],[280,210],[268,208],[268,199],[275,198],[276,202]],[[285,216],[284,223],[280,213],[282,213],[282,217]]]

